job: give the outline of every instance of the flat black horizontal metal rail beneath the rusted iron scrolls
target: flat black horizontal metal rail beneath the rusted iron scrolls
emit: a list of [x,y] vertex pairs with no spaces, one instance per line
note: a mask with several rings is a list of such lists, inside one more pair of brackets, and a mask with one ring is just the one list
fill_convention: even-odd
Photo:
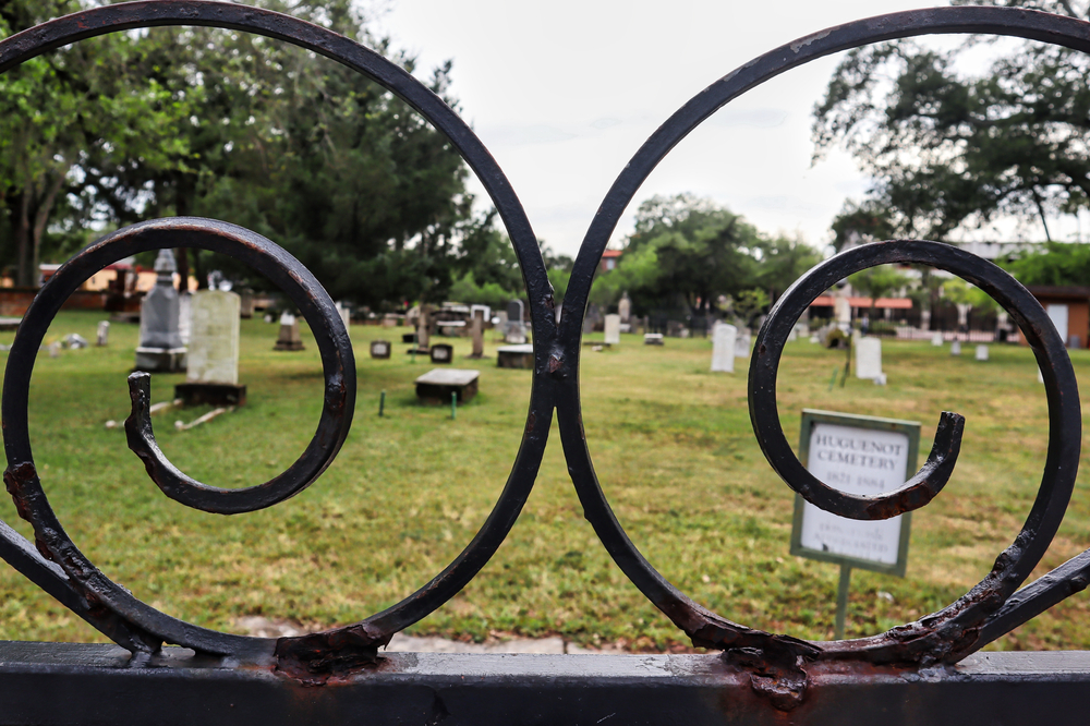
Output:
[[184,649],[0,641],[0,724],[821,724],[1071,723],[1090,652],[985,653],[949,668],[812,674],[775,710],[717,655],[390,653],[375,670],[303,686]]

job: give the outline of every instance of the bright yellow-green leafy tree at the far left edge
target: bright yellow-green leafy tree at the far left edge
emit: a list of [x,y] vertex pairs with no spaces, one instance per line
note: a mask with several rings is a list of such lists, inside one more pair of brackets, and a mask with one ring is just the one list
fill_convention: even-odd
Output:
[[[0,37],[77,9],[72,0],[4,3]],[[154,168],[183,153],[178,124],[187,109],[132,72],[133,45],[124,34],[96,38],[0,76],[0,216],[12,240],[0,254],[14,262],[19,285],[36,281],[50,218],[84,189],[89,154]]]

